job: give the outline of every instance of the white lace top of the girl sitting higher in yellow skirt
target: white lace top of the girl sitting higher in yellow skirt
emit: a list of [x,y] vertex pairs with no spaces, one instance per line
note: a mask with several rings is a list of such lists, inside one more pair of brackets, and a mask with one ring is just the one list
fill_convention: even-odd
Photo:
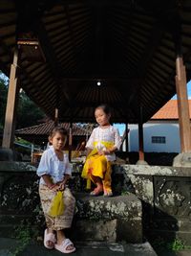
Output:
[[[121,145],[121,139],[119,131],[117,128],[110,126],[109,128],[94,128],[93,132],[86,144],[86,148],[94,149],[96,144],[96,149],[99,151],[106,150],[105,146],[101,142],[111,142],[119,150]],[[105,155],[108,161],[116,160],[116,154],[111,153]]]

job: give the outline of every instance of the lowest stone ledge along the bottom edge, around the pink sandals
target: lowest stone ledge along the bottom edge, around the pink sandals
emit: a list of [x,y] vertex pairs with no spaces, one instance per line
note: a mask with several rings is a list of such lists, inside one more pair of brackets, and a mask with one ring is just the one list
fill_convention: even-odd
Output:
[[[75,243],[75,256],[157,256],[149,243],[118,244],[118,243]],[[0,256],[11,256],[18,247],[13,239],[0,238]],[[30,244],[19,256],[61,256],[61,252],[48,250],[43,244]]]

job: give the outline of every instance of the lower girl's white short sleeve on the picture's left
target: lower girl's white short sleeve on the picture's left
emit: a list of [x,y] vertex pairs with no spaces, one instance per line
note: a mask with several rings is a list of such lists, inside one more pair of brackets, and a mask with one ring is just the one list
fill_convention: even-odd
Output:
[[51,163],[50,163],[50,155],[49,151],[44,151],[41,159],[39,166],[37,168],[37,175],[42,176],[42,175],[50,175],[51,173]]

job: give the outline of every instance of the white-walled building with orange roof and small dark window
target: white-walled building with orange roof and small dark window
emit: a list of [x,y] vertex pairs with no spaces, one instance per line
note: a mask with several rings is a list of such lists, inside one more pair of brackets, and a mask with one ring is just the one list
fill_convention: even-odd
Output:
[[[191,100],[189,110],[191,115]],[[129,151],[138,151],[138,125],[128,125],[128,128]],[[180,152],[177,100],[170,100],[163,105],[151,120],[143,125],[143,138],[145,152]]]

